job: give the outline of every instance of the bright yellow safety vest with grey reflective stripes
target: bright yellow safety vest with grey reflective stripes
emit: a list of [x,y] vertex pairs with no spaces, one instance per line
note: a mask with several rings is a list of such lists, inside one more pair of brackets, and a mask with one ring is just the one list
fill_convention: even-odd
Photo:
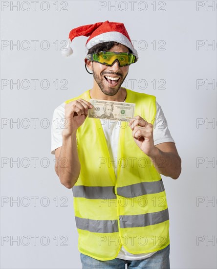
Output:
[[[154,122],[155,96],[127,91],[126,103],[135,103],[134,116]],[[89,90],[69,99],[90,100]],[[87,117],[77,130],[80,176],[72,188],[78,249],[92,258],[117,257],[122,246],[132,254],[167,247],[169,212],[160,174],[139,149],[128,122],[119,121],[117,178],[100,119]]]

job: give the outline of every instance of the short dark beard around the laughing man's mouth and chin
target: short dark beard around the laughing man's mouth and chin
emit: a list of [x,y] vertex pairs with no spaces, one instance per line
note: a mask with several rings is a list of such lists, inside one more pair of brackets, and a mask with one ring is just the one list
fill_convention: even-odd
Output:
[[94,69],[92,71],[93,71],[93,78],[95,79],[96,83],[98,84],[99,89],[102,90],[102,92],[104,94],[110,95],[110,96],[115,95],[118,92],[118,90],[120,89],[121,85],[123,84],[125,78],[128,75],[128,73],[127,73],[126,76],[123,78],[122,74],[115,73],[115,75],[120,76],[118,84],[115,87],[109,87],[109,82],[105,79],[104,75],[101,77],[100,75],[97,75],[94,72]]

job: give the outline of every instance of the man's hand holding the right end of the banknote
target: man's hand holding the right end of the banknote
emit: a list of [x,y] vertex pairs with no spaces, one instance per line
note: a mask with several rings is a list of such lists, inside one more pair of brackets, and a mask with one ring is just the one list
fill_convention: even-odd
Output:
[[140,116],[135,116],[129,122],[132,137],[137,146],[149,157],[154,157],[157,148],[153,143],[153,125]]

